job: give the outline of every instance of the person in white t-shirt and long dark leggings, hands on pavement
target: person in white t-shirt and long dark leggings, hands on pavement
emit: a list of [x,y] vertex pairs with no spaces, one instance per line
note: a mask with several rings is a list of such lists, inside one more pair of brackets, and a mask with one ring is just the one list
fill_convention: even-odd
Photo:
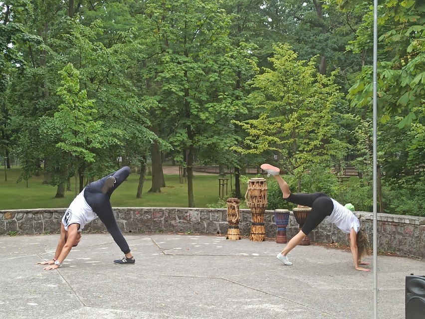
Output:
[[110,202],[112,192],[129,174],[130,167],[124,166],[116,172],[90,183],[75,197],[62,217],[60,238],[53,259],[41,263],[41,265],[48,265],[44,270],[60,267],[72,247],[77,246],[80,242],[84,226],[96,217],[99,217],[105,224],[106,229],[124,253],[124,257],[114,260],[114,263],[126,265],[136,262],[118,227]]

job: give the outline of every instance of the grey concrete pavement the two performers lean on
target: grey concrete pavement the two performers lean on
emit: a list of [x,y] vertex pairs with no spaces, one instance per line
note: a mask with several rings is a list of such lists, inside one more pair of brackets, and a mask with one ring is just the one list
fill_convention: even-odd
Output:
[[[1,319],[372,319],[373,273],[353,268],[351,253],[298,246],[292,266],[274,241],[225,236],[124,234],[135,265],[109,234],[83,234],[58,270],[58,234],[0,236]],[[372,256],[369,260],[372,262]],[[372,266],[370,266],[372,269]],[[378,314],[405,318],[405,276],[425,261],[378,256]]]

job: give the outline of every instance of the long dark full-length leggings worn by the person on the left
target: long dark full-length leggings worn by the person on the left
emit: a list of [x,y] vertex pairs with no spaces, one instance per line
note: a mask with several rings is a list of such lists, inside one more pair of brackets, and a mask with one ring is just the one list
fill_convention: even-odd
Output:
[[[124,254],[128,254],[130,252],[130,248],[128,247],[127,241],[124,239],[120,228],[118,227],[117,221],[115,220],[110,199],[112,192],[119,185],[121,185],[121,183],[127,178],[129,174],[130,167],[124,166],[116,172],[109,174],[108,176],[91,182],[84,189],[84,198],[87,204],[89,204],[96,215],[99,216],[99,219],[102,221],[102,223],[105,224],[106,229],[112,235],[112,238]],[[114,176],[116,181],[115,184],[106,192],[106,194],[104,194],[102,193],[102,186],[105,183],[106,178],[109,176]]]

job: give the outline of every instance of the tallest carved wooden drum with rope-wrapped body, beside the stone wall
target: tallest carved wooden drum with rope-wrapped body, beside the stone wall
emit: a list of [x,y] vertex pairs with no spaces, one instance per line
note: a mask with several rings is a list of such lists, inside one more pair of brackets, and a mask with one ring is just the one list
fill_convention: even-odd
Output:
[[245,200],[251,209],[251,241],[265,240],[264,211],[267,207],[267,181],[264,178],[248,180]]

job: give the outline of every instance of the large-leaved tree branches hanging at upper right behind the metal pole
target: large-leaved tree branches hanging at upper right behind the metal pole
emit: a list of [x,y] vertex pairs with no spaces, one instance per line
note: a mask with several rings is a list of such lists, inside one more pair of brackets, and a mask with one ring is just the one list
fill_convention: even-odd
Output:
[[[379,6],[378,24],[382,35],[378,45],[378,103],[382,123],[392,115],[402,115],[399,127],[408,126],[418,119],[416,111],[424,106],[425,18],[421,16],[424,9],[425,5],[415,0],[386,0]],[[368,12],[350,49],[371,50],[366,33],[372,29],[372,23],[372,12]],[[371,105],[372,93],[372,66],[368,65],[358,75],[349,97],[353,105],[362,108]]]

